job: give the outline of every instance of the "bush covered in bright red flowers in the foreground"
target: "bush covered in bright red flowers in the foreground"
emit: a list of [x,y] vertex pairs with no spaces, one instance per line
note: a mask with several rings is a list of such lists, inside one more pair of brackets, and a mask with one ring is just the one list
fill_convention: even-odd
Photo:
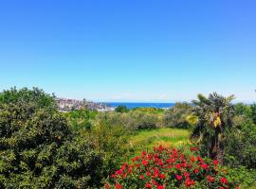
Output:
[[132,163],[123,163],[105,188],[235,188],[216,160],[196,156],[197,147],[190,150],[157,146],[153,152],[142,151]]

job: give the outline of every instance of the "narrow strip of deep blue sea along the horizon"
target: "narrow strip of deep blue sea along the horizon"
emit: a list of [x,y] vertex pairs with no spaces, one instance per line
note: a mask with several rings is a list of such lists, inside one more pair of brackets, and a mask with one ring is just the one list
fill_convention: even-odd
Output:
[[174,106],[174,103],[148,103],[148,102],[107,102],[108,106],[118,107],[118,106],[126,106],[128,109],[135,108],[170,108]]

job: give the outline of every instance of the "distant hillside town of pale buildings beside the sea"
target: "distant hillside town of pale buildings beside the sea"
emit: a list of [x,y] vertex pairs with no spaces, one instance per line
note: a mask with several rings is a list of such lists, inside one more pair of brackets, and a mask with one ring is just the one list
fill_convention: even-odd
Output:
[[106,103],[102,102],[92,102],[83,100],[76,100],[76,99],[67,99],[67,98],[57,98],[57,106],[60,112],[69,112],[81,109],[89,109],[93,111],[99,112],[109,112],[115,111],[114,107],[108,106]]

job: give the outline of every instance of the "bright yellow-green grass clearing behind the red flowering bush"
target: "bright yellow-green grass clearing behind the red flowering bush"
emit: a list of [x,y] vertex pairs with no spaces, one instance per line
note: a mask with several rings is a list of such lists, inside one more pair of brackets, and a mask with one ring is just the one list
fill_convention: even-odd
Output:
[[151,150],[153,146],[184,146],[189,142],[189,135],[187,129],[141,130],[132,136],[129,146],[133,155],[137,155],[142,150]]

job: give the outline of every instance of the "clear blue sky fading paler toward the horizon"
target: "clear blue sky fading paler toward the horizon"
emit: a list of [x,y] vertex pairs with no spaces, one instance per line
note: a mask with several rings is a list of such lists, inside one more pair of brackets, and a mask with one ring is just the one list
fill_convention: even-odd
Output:
[[0,90],[96,101],[256,101],[255,0],[0,2]]

